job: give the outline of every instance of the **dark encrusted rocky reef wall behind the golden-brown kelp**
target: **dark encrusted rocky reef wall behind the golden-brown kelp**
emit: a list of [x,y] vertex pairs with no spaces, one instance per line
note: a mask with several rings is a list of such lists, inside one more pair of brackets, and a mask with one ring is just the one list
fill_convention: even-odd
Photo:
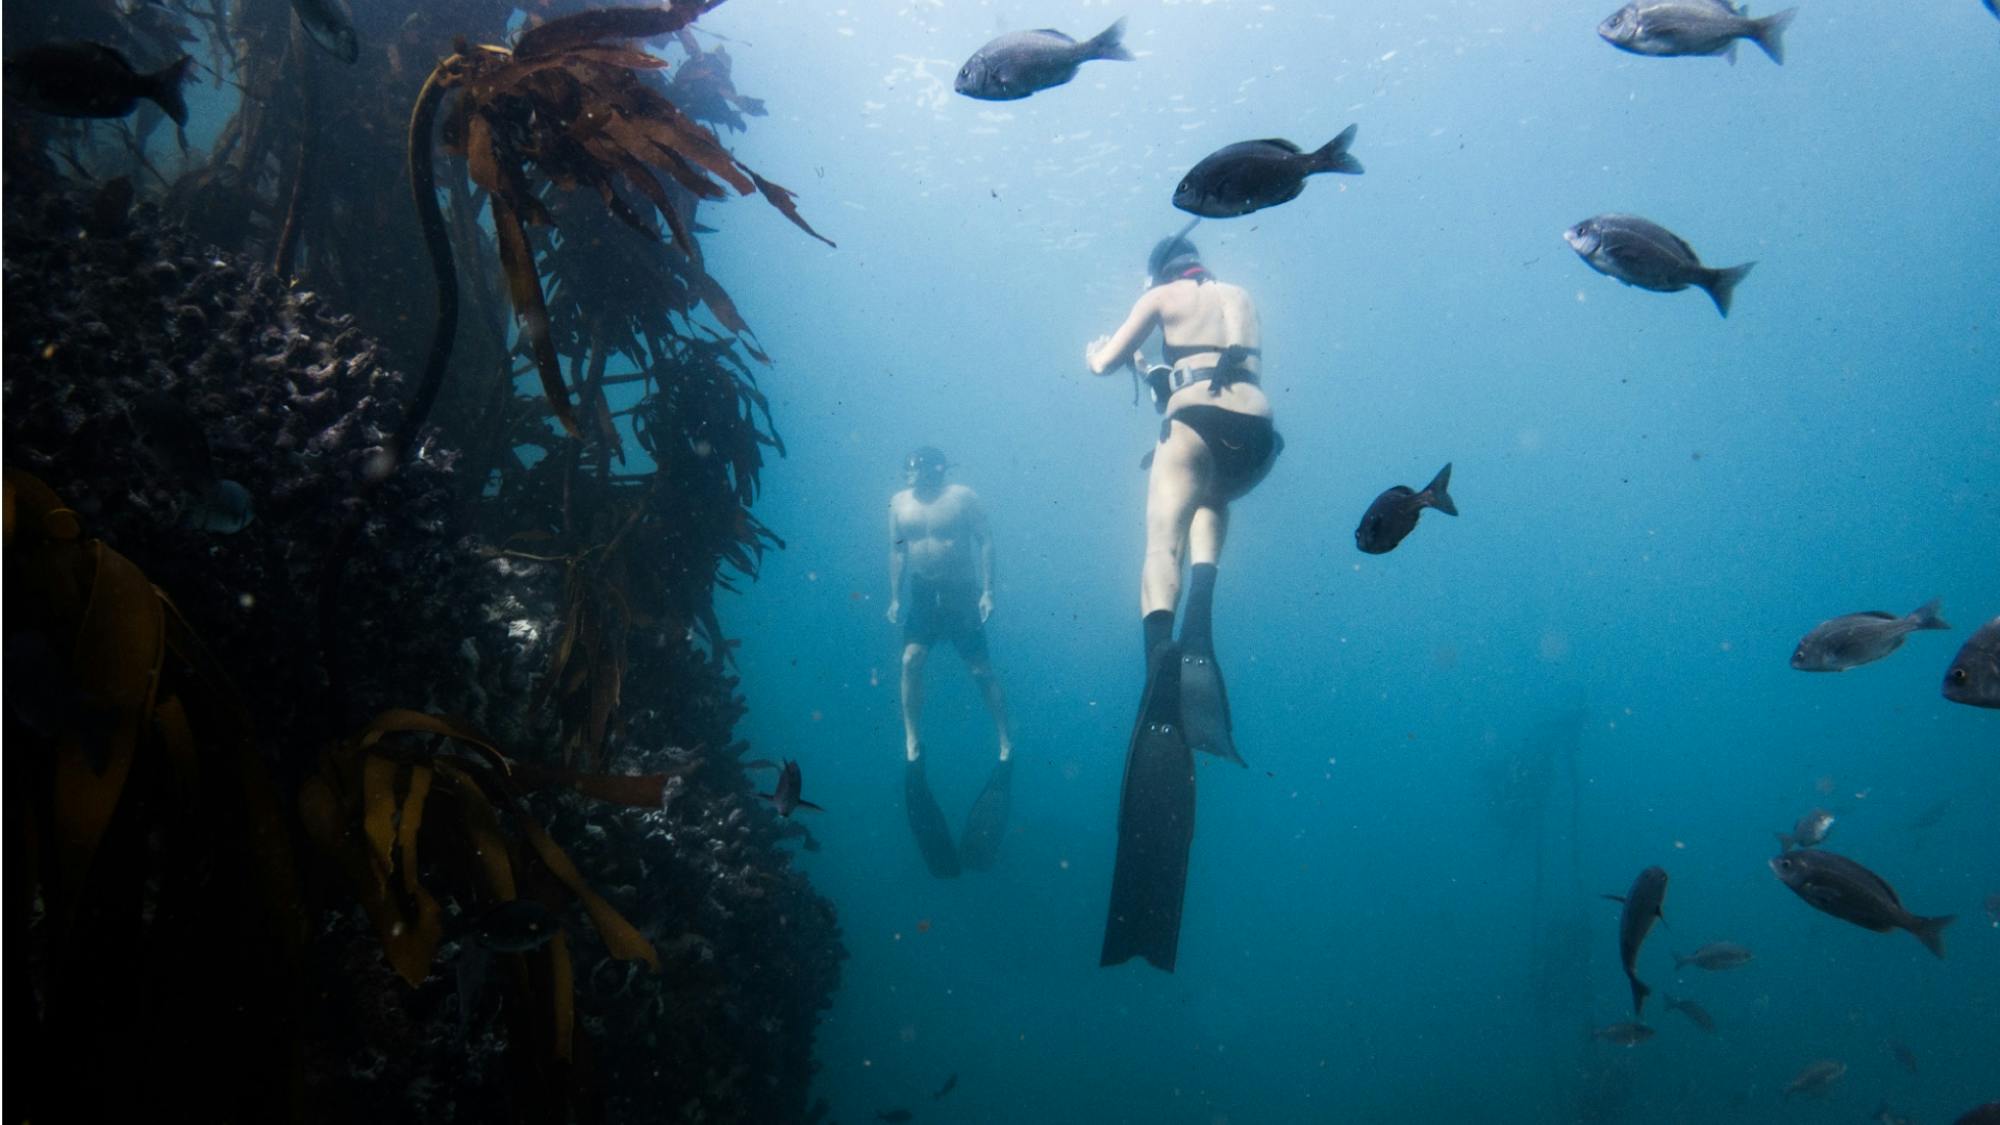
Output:
[[[10,194],[6,248],[6,462],[46,482],[200,633],[288,815],[322,751],[390,707],[456,715],[524,763],[562,765],[542,677],[564,633],[564,569],[494,546],[488,526],[504,520],[482,508],[482,482],[460,478],[444,432],[388,472],[384,434],[408,388],[352,318],[198,244],[118,182]],[[322,637],[324,552],[350,516],[362,532],[338,635]],[[308,935],[292,967],[296,1079],[270,1083],[290,1105],[262,1119],[806,1119],[816,1013],[844,959],[832,905],[792,867],[810,837],[754,797],[720,647],[670,619],[628,641],[620,719],[592,769],[666,775],[664,799],[634,809],[562,787],[524,799],[660,961],[606,957],[582,911],[562,911],[576,985],[564,1103],[530,1111],[512,1093],[516,1073],[542,1063],[524,1061],[498,1019],[514,995],[468,981],[470,903],[446,897],[448,939],[412,989],[290,823]],[[344,669],[342,701],[328,697],[322,653]],[[12,899],[8,911],[16,935],[46,925]],[[24,975],[42,969],[30,959]],[[176,1019],[240,1019],[228,989],[208,997],[212,1009]],[[46,991],[38,1003],[46,1017]],[[176,1093],[146,1101],[172,1109]],[[104,1099],[86,1109],[138,1101],[78,1097]]]

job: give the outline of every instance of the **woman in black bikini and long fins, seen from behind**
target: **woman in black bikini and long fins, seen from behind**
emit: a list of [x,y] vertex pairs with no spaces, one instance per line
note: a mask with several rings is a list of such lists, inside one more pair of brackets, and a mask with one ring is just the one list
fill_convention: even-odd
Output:
[[[1172,973],[1194,843],[1194,755],[1242,765],[1216,665],[1212,609],[1230,502],[1254,488],[1284,446],[1260,386],[1262,330],[1250,294],[1216,280],[1188,240],[1192,222],[1154,244],[1146,292],[1124,324],[1084,348],[1092,374],[1130,366],[1164,414],[1146,478],[1140,573],[1146,693],[1126,749],[1118,861],[1100,965],[1144,957]],[[1160,330],[1162,364],[1140,344]],[[1146,372],[1140,376],[1138,372]],[[1174,641],[1180,567],[1188,613]]]

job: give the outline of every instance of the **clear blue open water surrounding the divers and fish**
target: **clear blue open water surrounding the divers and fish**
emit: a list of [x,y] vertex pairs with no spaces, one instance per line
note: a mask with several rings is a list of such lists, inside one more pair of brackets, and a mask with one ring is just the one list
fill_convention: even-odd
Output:
[[[710,268],[778,360],[790,456],[758,514],[790,548],[724,613],[742,735],[828,807],[804,863],[852,951],[820,1029],[834,1119],[1784,1123],[1886,1099],[1950,1121],[2000,1097],[2000,715],[1938,697],[2000,615],[2000,20],[1808,0],[1780,68],[1628,56],[1594,34],[1608,12],[742,0],[704,20],[772,106],[740,156],[840,242],[754,202],[704,212]],[[1136,62],[1026,102],[950,94],[1000,30],[1116,16]],[[1200,765],[1178,971],[1098,969],[1156,418],[1078,356],[1180,226],[1194,160],[1348,122],[1366,176],[1194,232],[1260,304],[1288,440],[1236,506],[1216,611],[1250,769]],[[1734,314],[1590,272],[1560,232],[1604,210],[1758,260]],[[992,512],[1020,747],[1000,867],[942,883],[904,823],[882,617],[886,500],[926,442]],[[1464,514],[1360,554],[1368,500],[1446,460]],[[1826,617],[1930,597],[1952,633],[1848,675],[1788,667]],[[958,825],[992,729],[948,651],[930,687]],[[1496,769],[1564,743],[1578,799],[1558,769],[1510,829]],[[1946,961],[1770,875],[1772,831],[1816,805],[1830,847],[1960,915]],[[1670,929],[1640,975],[1720,1031],[1654,999],[1654,1041],[1592,1043],[1630,1015],[1596,895],[1652,863]],[[1580,945],[1550,945],[1564,919]],[[1676,977],[1668,951],[1714,939],[1756,961]],[[1814,1059],[1848,1065],[1830,1099],[1782,1101]]]

